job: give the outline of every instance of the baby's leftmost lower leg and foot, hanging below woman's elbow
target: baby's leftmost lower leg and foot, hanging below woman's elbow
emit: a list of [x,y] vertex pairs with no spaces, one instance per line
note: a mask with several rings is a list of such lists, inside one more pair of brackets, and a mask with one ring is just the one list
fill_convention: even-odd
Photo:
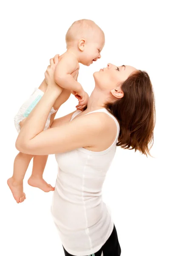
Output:
[[14,160],[13,175],[7,180],[8,186],[17,203],[22,203],[26,199],[26,195],[23,192],[23,179],[32,157],[33,155],[23,154],[21,152],[17,154]]

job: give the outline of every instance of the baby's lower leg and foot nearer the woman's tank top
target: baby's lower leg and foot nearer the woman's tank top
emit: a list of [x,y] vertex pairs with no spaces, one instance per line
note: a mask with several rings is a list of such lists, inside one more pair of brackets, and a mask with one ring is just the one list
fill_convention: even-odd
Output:
[[30,186],[42,189],[44,192],[54,191],[54,187],[42,178],[47,159],[48,155],[34,156],[32,174],[28,179]]

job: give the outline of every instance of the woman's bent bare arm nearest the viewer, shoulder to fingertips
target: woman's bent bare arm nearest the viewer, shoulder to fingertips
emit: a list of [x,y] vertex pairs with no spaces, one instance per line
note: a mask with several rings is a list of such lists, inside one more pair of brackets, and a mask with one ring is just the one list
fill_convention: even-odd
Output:
[[43,131],[48,113],[62,91],[62,88],[54,83],[55,61],[55,58],[54,61],[50,60],[51,68],[46,71],[51,84],[48,83],[42,99],[29,114],[17,137],[16,148],[26,154],[55,154],[91,146],[105,130],[104,122],[101,120],[103,113],[92,113]]

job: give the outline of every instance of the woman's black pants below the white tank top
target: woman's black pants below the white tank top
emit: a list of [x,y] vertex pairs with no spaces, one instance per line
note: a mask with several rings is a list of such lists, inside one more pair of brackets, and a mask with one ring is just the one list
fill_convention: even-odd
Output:
[[[63,247],[63,249],[64,249],[65,256],[74,256],[74,255],[68,253],[64,247]],[[98,250],[96,253],[91,254],[91,255],[92,256],[101,256],[101,255],[103,255],[103,256],[120,256],[120,254],[121,254],[121,248],[120,248],[120,244],[118,241],[116,227],[114,225],[111,236],[108,238],[108,240],[105,242],[105,244],[103,244],[103,246],[100,248],[100,250]]]

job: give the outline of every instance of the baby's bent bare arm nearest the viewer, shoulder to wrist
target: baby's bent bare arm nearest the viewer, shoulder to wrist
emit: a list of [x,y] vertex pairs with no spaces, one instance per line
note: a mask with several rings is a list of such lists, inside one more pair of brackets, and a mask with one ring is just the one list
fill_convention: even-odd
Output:
[[76,91],[77,94],[81,94],[84,92],[82,85],[77,82],[73,76],[71,76],[71,73],[77,70],[77,59],[76,57],[72,55],[67,55],[63,57],[59,63],[57,64],[57,67],[55,69],[54,73],[54,79],[55,82],[61,86],[62,88]]

